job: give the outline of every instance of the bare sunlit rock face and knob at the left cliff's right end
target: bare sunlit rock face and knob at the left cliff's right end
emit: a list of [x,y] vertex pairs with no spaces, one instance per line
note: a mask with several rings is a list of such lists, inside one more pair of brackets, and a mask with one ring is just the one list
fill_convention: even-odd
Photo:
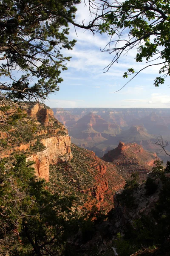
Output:
[[[31,105],[27,110],[27,115],[31,119],[40,122],[42,128],[37,135],[48,134],[48,138],[42,138],[41,143],[45,146],[45,150],[37,152],[27,158],[27,161],[34,161],[33,167],[38,177],[49,181],[49,165],[65,162],[72,159],[71,139],[64,125],[54,119],[54,113],[51,109],[42,104]],[[58,132],[66,135],[58,136]]]

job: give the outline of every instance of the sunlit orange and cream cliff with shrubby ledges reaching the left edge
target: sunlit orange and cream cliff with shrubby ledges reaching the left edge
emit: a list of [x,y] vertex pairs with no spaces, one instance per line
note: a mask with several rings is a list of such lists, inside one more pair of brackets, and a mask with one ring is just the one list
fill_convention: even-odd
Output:
[[[54,118],[53,111],[44,104],[20,103],[19,106],[27,113],[24,120],[25,124],[31,120],[36,124],[36,131],[27,143],[21,143],[22,138],[20,137],[14,138],[17,139],[17,143],[15,142],[14,146],[9,145],[9,149],[6,150],[1,148],[0,157],[8,157],[17,151],[25,152],[27,161],[35,162],[33,164],[35,174],[49,181],[50,164],[72,159],[71,139],[68,131],[64,125]],[[31,131],[27,132],[31,133]],[[12,139],[12,136],[10,139]],[[42,150],[34,150],[37,143],[43,145]]]

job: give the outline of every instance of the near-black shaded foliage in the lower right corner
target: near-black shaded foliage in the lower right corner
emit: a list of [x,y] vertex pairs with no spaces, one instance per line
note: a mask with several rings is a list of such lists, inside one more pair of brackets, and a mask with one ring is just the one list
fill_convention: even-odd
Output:
[[[162,161],[156,161],[156,166],[153,167],[155,176],[152,178],[148,177],[145,183],[145,196],[151,196],[158,188],[155,180],[159,179],[162,186],[159,200],[150,213],[147,215],[140,214],[139,218],[133,219],[132,223],[128,222],[123,227],[121,231],[124,236],[120,233],[117,234],[117,238],[114,240],[114,246],[117,247],[117,252],[120,256],[128,256],[136,250],[142,250],[142,248],[147,247],[151,250],[152,247],[155,247],[155,244],[159,245],[160,255],[163,255],[164,251],[169,252],[170,178],[162,174],[161,164]],[[167,163],[167,167],[168,165],[169,162]]]

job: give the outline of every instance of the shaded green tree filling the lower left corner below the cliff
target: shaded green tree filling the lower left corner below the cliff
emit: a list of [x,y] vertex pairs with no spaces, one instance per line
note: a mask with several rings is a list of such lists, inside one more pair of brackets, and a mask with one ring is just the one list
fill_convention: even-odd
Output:
[[77,229],[74,196],[52,194],[31,164],[24,155],[0,162],[0,255],[63,255]]

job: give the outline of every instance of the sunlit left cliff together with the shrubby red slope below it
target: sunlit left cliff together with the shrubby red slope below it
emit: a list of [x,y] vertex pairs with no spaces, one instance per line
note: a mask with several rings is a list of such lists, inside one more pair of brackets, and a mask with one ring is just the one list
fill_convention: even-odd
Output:
[[[23,119],[26,130],[23,134],[22,128],[18,130],[16,127],[11,132],[6,148],[0,147],[0,157],[25,154],[26,161],[33,162],[31,166],[38,178],[45,179],[51,186],[58,184],[62,188],[61,194],[65,187],[65,194],[74,189],[79,202],[83,202],[80,203],[82,207],[91,209],[95,205],[108,212],[113,207],[114,193],[125,185],[122,175],[93,151],[71,144],[68,130],[45,105],[27,103],[20,104],[19,108],[26,113]],[[31,128],[35,129],[32,134]],[[63,172],[67,173],[66,177]],[[57,173],[60,175],[59,183]]]

